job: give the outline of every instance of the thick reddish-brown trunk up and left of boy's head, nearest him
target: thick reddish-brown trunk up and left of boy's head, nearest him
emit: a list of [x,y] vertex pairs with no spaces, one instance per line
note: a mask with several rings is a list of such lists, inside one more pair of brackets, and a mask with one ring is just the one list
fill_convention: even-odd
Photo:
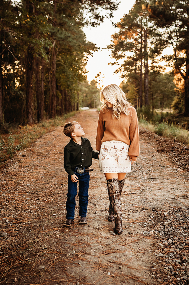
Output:
[[51,97],[51,117],[54,118],[56,116],[56,48],[55,41],[52,49],[52,97]]

